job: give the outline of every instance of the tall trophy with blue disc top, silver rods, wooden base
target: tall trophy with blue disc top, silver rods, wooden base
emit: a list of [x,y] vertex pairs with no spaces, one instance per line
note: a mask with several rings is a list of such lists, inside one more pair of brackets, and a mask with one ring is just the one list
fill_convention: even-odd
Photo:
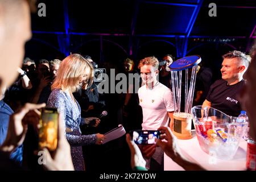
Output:
[[[201,57],[197,55],[183,57],[170,65],[172,93],[174,97],[174,130],[172,131],[178,139],[191,139],[192,115],[191,108],[196,83],[197,65]],[[192,68],[191,74],[189,74]],[[185,72],[184,80],[184,111],[181,111],[181,83],[182,72]],[[190,79],[189,79],[190,78]],[[188,82],[190,80],[190,84]]]

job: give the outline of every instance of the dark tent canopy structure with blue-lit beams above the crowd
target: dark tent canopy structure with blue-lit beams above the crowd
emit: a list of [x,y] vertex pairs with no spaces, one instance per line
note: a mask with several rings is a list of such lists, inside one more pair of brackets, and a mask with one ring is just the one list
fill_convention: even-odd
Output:
[[34,51],[36,55],[33,55],[28,51],[32,57],[43,56],[48,49],[53,57],[81,52],[98,61],[112,59],[113,55],[140,59],[150,54],[147,51],[157,56],[168,52],[182,57],[210,43],[248,52],[256,38],[254,0],[46,0],[40,3],[46,5],[46,16],[38,15],[42,6],[32,15],[34,36],[27,50],[39,48],[42,52]]

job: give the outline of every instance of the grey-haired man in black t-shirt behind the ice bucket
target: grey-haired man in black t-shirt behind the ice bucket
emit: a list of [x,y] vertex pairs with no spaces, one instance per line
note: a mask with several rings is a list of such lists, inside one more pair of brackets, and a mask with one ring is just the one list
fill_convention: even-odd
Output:
[[245,85],[243,73],[249,66],[249,59],[240,51],[231,51],[222,56],[222,80],[217,80],[210,86],[210,90],[203,107],[209,106],[225,114],[237,117],[241,111],[241,104],[237,94]]

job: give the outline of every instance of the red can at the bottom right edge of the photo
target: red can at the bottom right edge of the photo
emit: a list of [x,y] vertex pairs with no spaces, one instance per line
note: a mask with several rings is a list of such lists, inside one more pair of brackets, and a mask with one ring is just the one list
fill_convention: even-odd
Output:
[[247,140],[246,168],[256,171],[256,142],[253,139]]

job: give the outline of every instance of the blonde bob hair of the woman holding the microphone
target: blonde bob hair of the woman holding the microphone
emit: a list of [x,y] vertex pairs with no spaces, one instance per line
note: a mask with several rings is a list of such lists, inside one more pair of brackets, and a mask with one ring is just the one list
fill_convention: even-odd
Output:
[[61,89],[76,92],[80,88],[79,80],[85,74],[86,69],[89,69],[86,80],[89,87],[93,82],[92,64],[77,53],[69,55],[60,64],[59,71],[52,84],[52,90]]

